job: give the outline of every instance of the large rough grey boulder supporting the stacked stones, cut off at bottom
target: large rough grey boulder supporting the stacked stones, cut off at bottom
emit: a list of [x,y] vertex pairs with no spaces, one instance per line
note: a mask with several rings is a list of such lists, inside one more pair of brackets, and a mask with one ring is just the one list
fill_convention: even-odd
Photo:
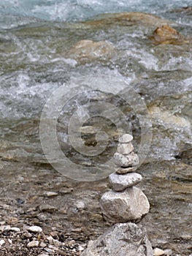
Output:
[[80,256],[153,256],[153,249],[141,225],[118,223],[110,227]]

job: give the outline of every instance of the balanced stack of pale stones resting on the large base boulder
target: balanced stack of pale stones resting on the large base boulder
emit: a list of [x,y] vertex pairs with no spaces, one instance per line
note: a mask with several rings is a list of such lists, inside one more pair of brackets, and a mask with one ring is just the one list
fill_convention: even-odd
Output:
[[109,176],[112,190],[101,197],[101,211],[108,222],[139,222],[150,209],[145,194],[141,189],[134,187],[142,181],[142,176],[135,173],[139,157],[134,153],[131,140],[133,137],[129,134],[120,136],[114,155],[118,167],[116,172]]

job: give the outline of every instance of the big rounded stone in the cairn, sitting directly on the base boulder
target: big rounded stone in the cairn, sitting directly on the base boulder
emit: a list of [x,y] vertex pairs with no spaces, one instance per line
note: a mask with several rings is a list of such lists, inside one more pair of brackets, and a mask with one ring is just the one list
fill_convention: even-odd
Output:
[[100,200],[101,211],[108,222],[139,221],[150,210],[147,197],[141,189],[129,187],[123,192],[111,190]]

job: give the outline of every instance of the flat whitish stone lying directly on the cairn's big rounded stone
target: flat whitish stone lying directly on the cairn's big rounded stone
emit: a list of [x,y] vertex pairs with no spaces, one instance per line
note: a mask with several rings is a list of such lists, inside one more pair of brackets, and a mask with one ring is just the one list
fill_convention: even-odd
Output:
[[133,187],[142,181],[142,176],[139,173],[112,173],[109,178],[110,184],[112,184],[112,188],[115,191],[122,191],[128,187]]

